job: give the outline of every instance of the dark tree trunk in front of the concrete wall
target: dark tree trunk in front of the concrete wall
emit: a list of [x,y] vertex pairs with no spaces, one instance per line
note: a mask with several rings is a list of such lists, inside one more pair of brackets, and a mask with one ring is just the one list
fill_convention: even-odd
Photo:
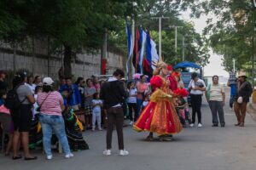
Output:
[[72,57],[72,48],[68,45],[64,45],[64,75],[65,75],[65,77],[72,77],[71,57]]

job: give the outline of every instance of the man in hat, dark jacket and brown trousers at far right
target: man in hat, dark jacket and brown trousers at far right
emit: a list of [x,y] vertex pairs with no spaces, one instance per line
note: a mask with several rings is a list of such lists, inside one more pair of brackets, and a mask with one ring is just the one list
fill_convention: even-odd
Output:
[[244,120],[247,113],[247,103],[253,94],[253,88],[250,82],[247,82],[247,76],[244,71],[238,74],[238,86],[234,110],[236,112],[237,123],[235,126],[244,127]]

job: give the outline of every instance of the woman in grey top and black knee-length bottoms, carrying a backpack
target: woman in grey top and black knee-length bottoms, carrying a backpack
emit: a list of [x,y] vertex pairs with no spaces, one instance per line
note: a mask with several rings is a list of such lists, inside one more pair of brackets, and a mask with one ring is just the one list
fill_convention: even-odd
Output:
[[32,91],[26,85],[26,73],[20,72],[15,75],[13,80],[13,88],[16,89],[18,98],[20,99],[20,109],[12,111],[12,119],[14,122],[15,133],[13,137],[13,160],[20,159],[18,154],[20,137],[24,150],[25,160],[35,160],[37,156],[32,156],[29,151],[29,131],[32,123],[32,104],[35,103]]

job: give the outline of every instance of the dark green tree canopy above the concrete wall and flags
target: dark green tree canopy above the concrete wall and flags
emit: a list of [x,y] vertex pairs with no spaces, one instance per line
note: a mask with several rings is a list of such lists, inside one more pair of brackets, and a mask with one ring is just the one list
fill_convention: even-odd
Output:
[[[82,48],[99,49],[108,33],[108,42],[126,51],[125,18],[135,18],[137,26],[150,31],[157,42],[158,22],[148,16],[167,16],[163,20],[163,55],[167,62],[182,59],[185,37],[187,60],[207,63],[207,43],[194,26],[180,19],[180,11],[191,3],[182,0],[2,0],[0,1],[0,39],[23,43],[31,38],[49,39],[51,51],[64,47],[65,75],[71,76],[71,59]],[[174,30],[178,30],[177,54]],[[45,40],[46,41],[46,40]]]

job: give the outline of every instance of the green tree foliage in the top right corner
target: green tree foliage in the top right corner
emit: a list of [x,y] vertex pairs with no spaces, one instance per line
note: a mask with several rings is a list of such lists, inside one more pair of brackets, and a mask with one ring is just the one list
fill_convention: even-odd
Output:
[[253,53],[255,55],[256,8],[253,1],[210,0],[201,3],[201,7],[198,11],[212,16],[207,20],[204,33],[209,36],[214,52],[224,56],[225,70],[232,71],[232,59],[236,59],[238,71],[244,69],[251,72],[252,66],[247,65]]

